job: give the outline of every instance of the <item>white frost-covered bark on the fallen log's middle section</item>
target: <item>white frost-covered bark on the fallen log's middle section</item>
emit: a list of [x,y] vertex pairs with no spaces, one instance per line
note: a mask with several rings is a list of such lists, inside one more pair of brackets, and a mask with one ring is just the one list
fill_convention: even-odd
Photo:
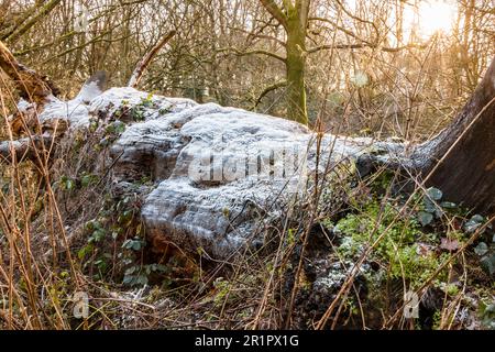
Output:
[[[95,91],[87,89],[91,95]],[[308,191],[315,172],[316,135],[285,119],[165,98],[133,88],[112,88],[92,99],[51,99],[40,119],[65,120],[69,129],[91,119],[121,118],[125,131],[113,142],[116,185],[154,182],[142,219],[150,240],[173,242],[183,250],[227,258],[263,243],[264,219],[275,219],[295,196]],[[140,111],[140,121],[127,117]],[[394,143],[323,135],[319,172],[327,163],[366,155],[377,145],[386,163]],[[391,154],[392,153],[392,154]]]

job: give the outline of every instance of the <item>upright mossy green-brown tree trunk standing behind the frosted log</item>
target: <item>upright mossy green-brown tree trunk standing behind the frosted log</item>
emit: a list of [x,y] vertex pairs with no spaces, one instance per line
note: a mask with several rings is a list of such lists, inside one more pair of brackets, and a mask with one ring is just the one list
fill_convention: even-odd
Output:
[[300,23],[297,12],[287,21],[287,118],[308,124],[306,108],[305,66],[306,28]]

